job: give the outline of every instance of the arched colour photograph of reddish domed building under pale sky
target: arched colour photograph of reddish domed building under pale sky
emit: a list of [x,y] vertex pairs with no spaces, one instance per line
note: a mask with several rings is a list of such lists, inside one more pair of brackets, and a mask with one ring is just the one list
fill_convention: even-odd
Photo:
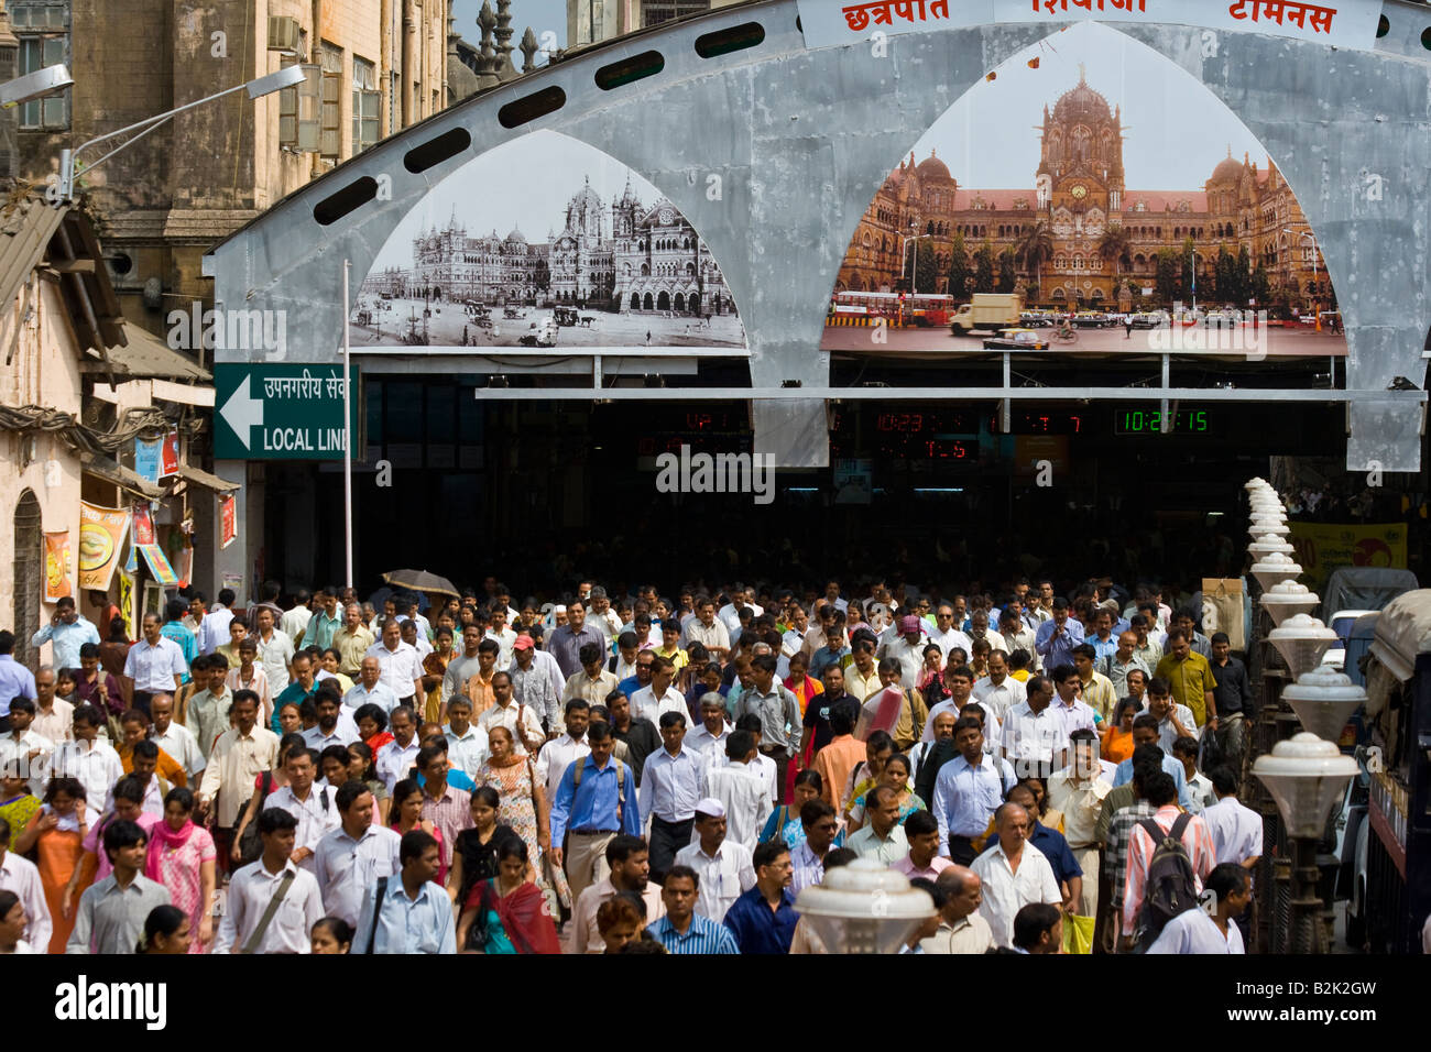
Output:
[[[949,296],[950,308],[1017,293],[1052,312],[1173,312],[1193,301],[1291,321],[1332,311],[1292,187],[1241,122],[1185,79],[1090,24],[1012,59],[874,193],[831,321],[841,301],[907,321],[900,293]],[[1143,189],[1153,186],[1171,189]],[[851,338],[827,329],[826,344]]]

